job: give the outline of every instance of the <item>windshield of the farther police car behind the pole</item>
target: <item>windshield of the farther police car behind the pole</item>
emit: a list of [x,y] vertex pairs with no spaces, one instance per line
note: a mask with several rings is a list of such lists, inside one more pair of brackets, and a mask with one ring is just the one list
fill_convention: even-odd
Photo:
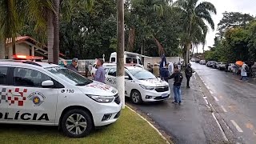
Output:
[[130,74],[132,74],[138,80],[146,80],[146,79],[155,79],[154,74],[150,73],[147,70],[129,70]]

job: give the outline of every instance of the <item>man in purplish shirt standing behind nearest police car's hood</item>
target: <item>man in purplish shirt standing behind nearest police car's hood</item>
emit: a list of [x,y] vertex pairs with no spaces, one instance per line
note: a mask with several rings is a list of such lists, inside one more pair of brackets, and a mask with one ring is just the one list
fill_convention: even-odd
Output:
[[96,73],[94,74],[94,81],[97,81],[97,82],[102,82],[102,83],[105,83],[105,69],[102,67],[103,65],[103,60],[102,59],[98,59],[97,60],[97,71]]

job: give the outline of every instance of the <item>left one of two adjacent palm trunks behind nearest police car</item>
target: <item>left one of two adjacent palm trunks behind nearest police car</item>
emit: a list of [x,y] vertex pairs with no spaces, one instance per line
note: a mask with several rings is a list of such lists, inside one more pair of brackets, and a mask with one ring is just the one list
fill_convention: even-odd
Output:
[[54,62],[54,15],[51,10],[47,10],[47,47],[48,62]]

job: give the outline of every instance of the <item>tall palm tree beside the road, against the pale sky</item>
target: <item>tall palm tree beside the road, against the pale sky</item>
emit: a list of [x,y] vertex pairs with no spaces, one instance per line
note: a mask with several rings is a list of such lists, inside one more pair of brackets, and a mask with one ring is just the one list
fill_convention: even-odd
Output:
[[189,62],[191,44],[194,42],[205,43],[208,26],[214,30],[214,21],[211,14],[216,14],[214,5],[210,2],[198,2],[199,0],[178,0],[174,2],[174,10],[182,14],[184,19],[184,34],[182,45],[184,46],[185,64]]

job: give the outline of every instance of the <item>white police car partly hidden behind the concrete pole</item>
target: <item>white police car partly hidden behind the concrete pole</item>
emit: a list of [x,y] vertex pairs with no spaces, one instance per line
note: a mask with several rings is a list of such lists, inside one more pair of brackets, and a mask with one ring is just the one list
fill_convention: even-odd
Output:
[[[125,95],[135,104],[170,98],[168,82],[139,66],[125,66],[125,79]],[[105,83],[116,87],[116,66],[106,67]]]

